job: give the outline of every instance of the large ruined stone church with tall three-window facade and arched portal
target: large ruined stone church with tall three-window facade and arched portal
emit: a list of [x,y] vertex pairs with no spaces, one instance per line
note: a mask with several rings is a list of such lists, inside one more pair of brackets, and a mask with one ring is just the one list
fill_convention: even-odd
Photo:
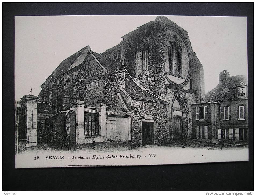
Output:
[[85,108],[106,104],[109,115],[129,116],[128,138],[136,148],[192,137],[191,104],[204,100],[204,71],[188,32],[157,16],[101,54],[82,48],[41,88],[38,104],[55,114],[84,101]]

